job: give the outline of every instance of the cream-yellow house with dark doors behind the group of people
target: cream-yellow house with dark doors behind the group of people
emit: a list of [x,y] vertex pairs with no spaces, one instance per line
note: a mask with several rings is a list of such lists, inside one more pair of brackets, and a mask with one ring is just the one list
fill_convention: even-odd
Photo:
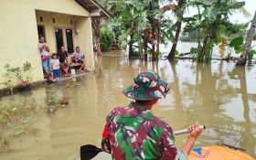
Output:
[[95,0],[0,0],[0,83],[7,80],[5,64],[26,61],[32,80],[44,80],[38,36],[46,38],[50,53],[64,45],[71,54],[79,46],[93,70],[92,16],[110,15]]

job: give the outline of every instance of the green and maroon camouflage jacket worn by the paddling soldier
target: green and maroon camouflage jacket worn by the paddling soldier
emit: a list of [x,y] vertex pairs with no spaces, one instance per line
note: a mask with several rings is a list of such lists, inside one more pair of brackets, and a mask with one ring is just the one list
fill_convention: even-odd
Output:
[[171,127],[135,102],[107,116],[102,136],[102,148],[109,146],[116,160],[177,158]]

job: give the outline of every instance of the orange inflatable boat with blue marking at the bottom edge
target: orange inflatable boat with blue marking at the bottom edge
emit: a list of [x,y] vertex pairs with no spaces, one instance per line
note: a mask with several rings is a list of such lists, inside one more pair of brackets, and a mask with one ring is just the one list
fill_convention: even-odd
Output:
[[208,146],[191,150],[189,160],[255,160],[250,155],[223,146]]

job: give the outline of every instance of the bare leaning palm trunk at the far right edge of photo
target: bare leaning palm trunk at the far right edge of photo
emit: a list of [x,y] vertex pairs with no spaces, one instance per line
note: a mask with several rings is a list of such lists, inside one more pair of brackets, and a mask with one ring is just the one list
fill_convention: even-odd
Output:
[[255,27],[256,27],[256,11],[254,13],[253,19],[251,21],[251,27],[248,31],[246,42],[243,46],[243,52],[240,55],[240,59],[238,60],[236,66],[245,66],[248,52],[251,48],[251,42],[253,40],[254,34],[255,34]]

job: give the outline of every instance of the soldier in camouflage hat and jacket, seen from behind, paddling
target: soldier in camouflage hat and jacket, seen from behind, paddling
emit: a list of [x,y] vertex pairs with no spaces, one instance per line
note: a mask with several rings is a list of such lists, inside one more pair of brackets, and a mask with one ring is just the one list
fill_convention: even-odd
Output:
[[113,109],[107,116],[101,141],[103,151],[112,153],[116,160],[187,159],[202,130],[199,123],[189,126],[191,133],[186,144],[180,151],[176,149],[172,128],[151,111],[168,91],[169,85],[157,73],[139,73],[133,85],[123,90],[125,96],[135,101]]

